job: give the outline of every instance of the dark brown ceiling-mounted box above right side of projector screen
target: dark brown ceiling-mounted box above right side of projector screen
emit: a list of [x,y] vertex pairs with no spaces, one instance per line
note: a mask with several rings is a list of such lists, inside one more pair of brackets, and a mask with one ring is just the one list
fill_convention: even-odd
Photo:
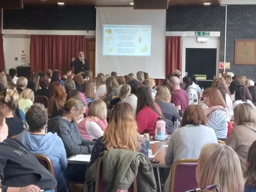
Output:
[[168,0],[133,0],[133,9],[168,9]]

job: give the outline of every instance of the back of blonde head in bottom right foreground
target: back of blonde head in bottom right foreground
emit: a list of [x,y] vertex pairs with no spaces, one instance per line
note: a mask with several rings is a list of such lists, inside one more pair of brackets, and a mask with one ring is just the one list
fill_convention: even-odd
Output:
[[243,192],[243,173],[236,152],[227,145],[204,145],[198,159],[196,181],[199,188],[218,184],[220,192]]

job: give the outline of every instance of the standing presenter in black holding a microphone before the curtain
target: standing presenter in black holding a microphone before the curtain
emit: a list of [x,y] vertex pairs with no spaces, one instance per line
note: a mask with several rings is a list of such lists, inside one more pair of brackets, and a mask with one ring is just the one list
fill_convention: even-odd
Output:
[[89,70],[88,61],[85,59],[85,54],[83,54],[82,51],[78,53],[78,58],[72,58],[70,68],[72,68],[73,66],[75,66],[75,74],[81,71],[86,72]]

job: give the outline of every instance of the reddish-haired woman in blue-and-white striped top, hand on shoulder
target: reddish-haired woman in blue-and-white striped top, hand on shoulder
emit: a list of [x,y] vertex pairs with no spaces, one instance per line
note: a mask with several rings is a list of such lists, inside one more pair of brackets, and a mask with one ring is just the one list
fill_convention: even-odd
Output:
[[204,109],[207,117],[206,126],[214,129],[217,138],[226,138],[228,134],[228,121],[226,116],[226,103],[217,88],[208,87],[203,91],[203,98],[209,107]]

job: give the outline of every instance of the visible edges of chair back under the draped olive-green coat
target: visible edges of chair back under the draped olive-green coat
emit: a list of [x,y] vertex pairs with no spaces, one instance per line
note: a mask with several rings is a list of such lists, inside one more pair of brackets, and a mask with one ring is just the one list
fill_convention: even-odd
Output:
[[[103,177],[103,160],[100,158],[97,163],[96,183],[94,192],[103,192],[105,189],[105,182]],[[133,181],[133,184],[128,189],[128,192],[137,192],[137,180]]]

